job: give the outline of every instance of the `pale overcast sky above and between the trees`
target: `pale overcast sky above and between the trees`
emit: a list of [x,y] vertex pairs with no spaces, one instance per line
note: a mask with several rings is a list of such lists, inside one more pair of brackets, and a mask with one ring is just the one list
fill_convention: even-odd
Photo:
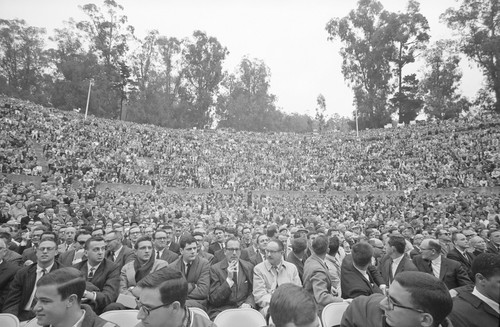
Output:
[[[403,0],[380,0],[390,11],[404,11]],[[356,8],[356,0],[117,0],[124,7],[135,34],[147,31],[161,35],[190,37],[202,30],[216,37],[229,55],[224,68],[232,73],[245,56],[261,59],[271,71],[271,93],[287,113],[314,115],[316,98],[323,94],[327,115],[350,116],[353,93],[341,73],[339,41],[328,41],[325,26],[332,18],[344,17]],[[70,17],[86,19],[79,8],[102,0],[0,0],[0,19],[24,19],[28,25],[44,27],[51,35]],[[455,0],[420,0],[420,9],[430,25],[431,42],[452,37],[439,21]],[[422,64],[408,67],[419,72]],[[461,90],[472,98],[482,84],[482,75],[463,60]]]

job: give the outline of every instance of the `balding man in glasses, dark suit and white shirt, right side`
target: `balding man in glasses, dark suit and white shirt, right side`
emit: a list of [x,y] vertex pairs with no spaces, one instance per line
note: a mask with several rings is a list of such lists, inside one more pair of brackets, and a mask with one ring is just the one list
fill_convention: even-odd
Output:
[[462,265],[441,255],[441,244],[432,239],[422,241],[422,254],[413,258],[413,263],[419,271],[431,274],[442,280],[448,289],[472,284]]

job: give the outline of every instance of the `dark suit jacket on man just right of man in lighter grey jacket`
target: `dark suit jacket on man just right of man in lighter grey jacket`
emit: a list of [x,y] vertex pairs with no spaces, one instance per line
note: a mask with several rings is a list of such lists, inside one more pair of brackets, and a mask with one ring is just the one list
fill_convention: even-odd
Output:
[[372,295],[374,293],[382,293],[379,285],[384,283],[382,276],[377,269],[370,265],[366,270],[367,280],[352,262],[352,256],[346,255],[342,260],[342,267],[340,268],[340,287],[342,289],[342,298],[352,299],[360,295]]

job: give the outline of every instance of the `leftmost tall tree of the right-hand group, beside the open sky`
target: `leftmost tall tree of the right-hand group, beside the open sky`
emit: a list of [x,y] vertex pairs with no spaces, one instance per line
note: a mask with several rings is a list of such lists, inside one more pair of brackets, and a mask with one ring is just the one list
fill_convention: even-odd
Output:
[[360,128],[382,127],[390,121],[387,99],[392,93],[390,58],[394,53],[386,28],[388,13],[376,0],[359,0],[358,7],[326,26],[329,40],[343,43],[342,73],[354,91]]

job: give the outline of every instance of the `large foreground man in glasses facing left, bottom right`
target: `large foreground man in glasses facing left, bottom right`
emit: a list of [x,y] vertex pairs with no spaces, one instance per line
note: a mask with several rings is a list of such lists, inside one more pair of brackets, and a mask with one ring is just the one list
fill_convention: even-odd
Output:
[[345,327],[451,326],[446,318],[453,302],[446,285],[419,271],[397,274],[386,295],[359,296],[347,307]]

